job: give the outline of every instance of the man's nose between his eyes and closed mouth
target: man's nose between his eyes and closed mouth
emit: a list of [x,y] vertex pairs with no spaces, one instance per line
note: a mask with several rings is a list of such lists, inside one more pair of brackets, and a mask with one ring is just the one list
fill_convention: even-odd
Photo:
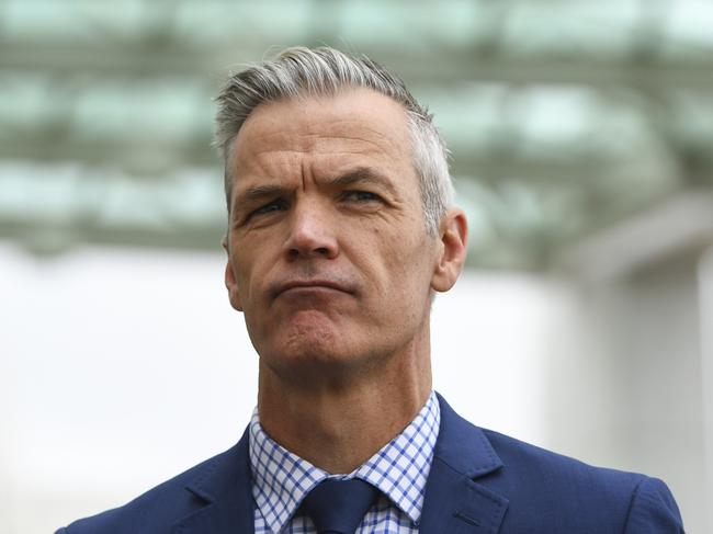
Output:
[[339,253],[335,221],[328,208],[318,203],[304,203],[295,206],[290,236],[285,242],[287,259],[333,259]]

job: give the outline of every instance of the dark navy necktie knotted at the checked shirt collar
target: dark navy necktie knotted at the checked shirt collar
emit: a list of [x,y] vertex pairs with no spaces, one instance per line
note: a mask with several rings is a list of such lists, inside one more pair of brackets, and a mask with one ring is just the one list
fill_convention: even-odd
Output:
[[317,534],[354,534],[378,490],[364,480],[325,480],[302,502]]

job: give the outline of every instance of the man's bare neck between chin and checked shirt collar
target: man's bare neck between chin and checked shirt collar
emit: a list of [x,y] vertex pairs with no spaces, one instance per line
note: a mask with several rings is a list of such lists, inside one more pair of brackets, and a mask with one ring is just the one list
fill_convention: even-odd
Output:
[[[327,473],[353,471],[401,432],[426,404],[431,391],[428,334],[425,341],[425,350],[410,346],[369,372],[350,370],[340,379],[320,379],[316,374],[309,387],[261,361],[262,428]],[[423,349],[422,343],[415,345]]]

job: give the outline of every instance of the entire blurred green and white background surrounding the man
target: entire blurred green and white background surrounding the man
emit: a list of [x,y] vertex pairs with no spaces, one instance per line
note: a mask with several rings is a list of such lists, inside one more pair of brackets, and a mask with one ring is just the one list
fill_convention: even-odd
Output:
[[222,282],[212,99],[296,44],[400,73],[452,150],[471,241],[437,389],[664,478],[713,532],[708,0],[0,0],[0,532],[239,439],[257,356]]

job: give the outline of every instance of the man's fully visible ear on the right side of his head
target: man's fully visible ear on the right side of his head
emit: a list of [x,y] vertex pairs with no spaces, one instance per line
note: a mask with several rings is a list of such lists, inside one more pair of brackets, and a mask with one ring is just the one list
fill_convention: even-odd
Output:
[[432,289],[446,292],[455,284],[465,263],[467,234],[463,209],[449,209],[439,224],[439,255],[431,279]]

